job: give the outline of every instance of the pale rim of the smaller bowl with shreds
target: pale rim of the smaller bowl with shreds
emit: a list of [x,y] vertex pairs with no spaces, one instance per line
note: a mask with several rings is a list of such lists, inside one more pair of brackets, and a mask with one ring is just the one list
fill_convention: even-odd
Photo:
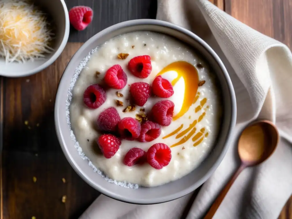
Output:
[[61,53],[63,52],[63,50],[67,44],[67,41],[69,39],[69,32],[70,32],[69,13],[68,13],[68,9],[67,9],[65,0],[60,0],[60,2],[63,6],[64,15],[65,15],[65,33],[64,33],[62,42],[61,42],[60,46],[58,47],[58,49],[55,51],[54,55],[52,55],[52,57],[49,58],[46,62],[44,62],[42,65],[40,65],[34,69],[27,70],[25,72],[18,72],[16,74],[12,75],[12,74],[7,74],[5,72],[2,72],[0,69],[0,76],[11,77],[11,78],[30,76],[30,75],[41,72],[42,70],[44,70],[45,68],[47,68],[48,66],[53,64],[53,62],[55,62],[55,60],[57,60],[57,58],[61,55]]

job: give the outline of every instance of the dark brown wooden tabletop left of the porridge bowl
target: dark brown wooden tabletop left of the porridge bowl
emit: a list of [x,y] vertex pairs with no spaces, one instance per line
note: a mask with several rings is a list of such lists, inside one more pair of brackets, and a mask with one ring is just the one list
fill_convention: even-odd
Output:
[[38,74],[4,79],[3,218],[75,218],[99,194],[65,159],[53,122],[60,77],[81,45],[68,43],[58,60]]

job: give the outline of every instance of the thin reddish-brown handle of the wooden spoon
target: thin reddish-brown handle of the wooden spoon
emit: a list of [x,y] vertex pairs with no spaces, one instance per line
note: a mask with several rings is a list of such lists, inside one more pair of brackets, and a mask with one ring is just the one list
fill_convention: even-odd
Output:
[[217,209],[219,208],[221,202],[223,201],[223,199],[224,199],[225,195],[227,194],[227,192],[229,191],[230,187],[232,186],[232,184],[234,183],[234,181],[238,177],[239,173],[241,173],[241,171],[245,167],[246,166],[244,164],[241,164],[239,166],[239,168],[237,169],[237,171],[233,174],[232,178],[225,185],[225,187],[223,188],[223,190],[220,192],[220,194],[218,195],[218,197],[213,202],[211,208],[209,209],[209,211],[206,214],[206,216],[204,217],[204,219],[211,219],[211,218],[213,218],[214,214],[216,213]]

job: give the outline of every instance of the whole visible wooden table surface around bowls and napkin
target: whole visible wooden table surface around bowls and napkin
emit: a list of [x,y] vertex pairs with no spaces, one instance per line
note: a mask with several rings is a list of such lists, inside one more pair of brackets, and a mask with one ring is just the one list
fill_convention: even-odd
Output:
[[[210,1],[292,47],[291,0]],[[62,55],[44,71],[25,78],[0,78],[1,219],[78,218],[99,195],[75,173],[59,146],[53,116],[58,83],[71,56],[93,34],[121,21],[154,19],[157,10],[155,0],[66,2],[68,8],[80,4],[93,8],[93,24],[82,32],[71,29]],[[292,198],[280,218],[292,218]]]

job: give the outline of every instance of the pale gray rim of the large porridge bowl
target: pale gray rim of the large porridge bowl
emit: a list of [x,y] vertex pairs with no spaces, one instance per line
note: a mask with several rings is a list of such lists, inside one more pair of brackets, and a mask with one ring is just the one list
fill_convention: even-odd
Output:
[[[68,66],[70,63],[74,62],[75,59],[78,59],[78,57],[81,55],[82,51],[84,50],[84,48],[86,48],[87,46],[89,46],[90,44],[92,44],[97,38],[99,38],[100,36],[102,36],[103,34],[112,32],[116,29],[122,29],[122,28],[126,28],[126,27],[130,27],[130,26],[135,26],[135,25],[157,25],[157,26],[163,26],[163,27],[168,27],[171,29],[174,29],[176,31],[182,32],[183,34],[186,34],[187,36],[190,36],[191,38],[193,38],[194,40],[196,40],[199,44],[201,44],[201,46],[204,47],[204,49],[206,49],[206,51],[208,53],[210,53],[210,55],[213,57],[213,59],[218,63],[218,66],[220,67],[220,69],[222,70],[224,77],[226,79],[226,83],[228,85],[228,90],[230,92],[230,105],[231,105],[231,115],[230,115],[230,126],[228,128],[228,133],[227,133],[227,137],[225,140],[225,145],[223,146],[223,150],[220,152],[220,155],[218,156],[217,160],[215,161],[215,164],[204,174],[204,176],[198,180],[196,183],[194,183],[192,186],[181,190],[179,192],[176,192],[174,194],[171,195],[167,195],[164,197],[159,197],[159,198],[155,198],[155,199],[151,199],[148,201],[142,201],[142,200],[136,200],[134,198],[127,198],[127,197],[121,197],[119,195],[116,195],[114,192],[111,192],[110,190],[106,190],[103,188],[100,188],[98,185],[96,185],[91,179],[89,179],[86,174],[84,173],[84,171],[81,170],[81,168],[79,168],[78,164],[76,163],[76,161],[74,159],[72,159],[68,149],[65,140],[63,138],[62,135],[62,131],[61,131],[61,124],[60,124],[60,117],[62,115],[59,114],[59,105],[58,103],[60,101],[65,101],[61,99],[61,91],[58,88],[57,94],[56,94],[56,100],[55,100],[55,128],[56,128],[56,133],[57,133],[57,137],[60,143],[60,146],[62,148],[62,151],[65,154],[66,159],[68,160],[68,162],[70,163],[70,165],[72,166],[72,168],[77,172],[77,174],[89,185],[91,185],[91,187],[93,187],[94,189],[98,190],[100,193],[104,194],[107,197],[116,199],[118,201],[123,201],[123,202],[127,202],[127,203],[131,203],[131,204],[159,204],[159,203],[164,203],[164,202],[168,202],[168,201],[172,201],[175,199],[178,199],[180,197],[183,197],[191,192],[193,192],[195,189],[197,189],[200,185],[202,185],[204,182],[206,182],[206,180],[215,172],[215,170],[218,168],[218,166],[220,165],[220,163],[222,162],[223,158],[225,157],[225,154],[228,150],[228,147],[232,141],[232,132],[234,131],[234,127],[236,124],[236,114],[237,114],[237,108],[236,108],[236,98],[235,98],[235,92],[234,92],[234,88],[231,82],[231,79],[229,77],[229,74],[223,64],[223,62],[221,61],[221,59],[219,58],[219,56],[215,53],[215,51],[213,51],[213,49],[204,41],[202,40],[199,36],[197,36],[196,34],[194,34],[193,32],[180,27],[178,25],[172,24],[170,22],[166,22],[166,21],[162,21],[162,20],[154,20],[154,19],[137,19],[137,20],[128,20],[128,21],[124,21],[115,25],[112,25],[110,27],[107,27],[106,29],[103,29],[102,31],[98,32],[97,34],[95,34],[94,36],[92,36],[90,39],[88,39],[78,50],[77,52],[72,56],[71,60],[68,62],[67,67],[64,70],[64,73],[60,79],[60,83],[59,83],[59,87],[63,86],[63,84],[67,83],[67,81],[65,80],[64,75],[66,74],[66,70],[68,69]],[[65,109],[64,109],[65,110]],[[163,185],[162,185],[163,186]],[[151,188],[151,187],[150,187]]]

